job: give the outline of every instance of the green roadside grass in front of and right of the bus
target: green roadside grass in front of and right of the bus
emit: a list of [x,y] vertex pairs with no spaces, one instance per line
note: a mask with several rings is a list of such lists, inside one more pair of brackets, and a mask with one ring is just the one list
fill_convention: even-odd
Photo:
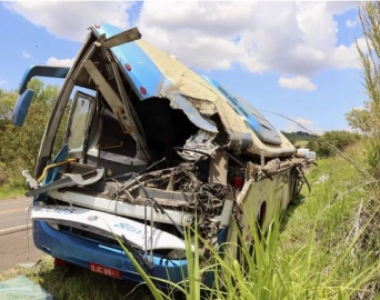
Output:
[[[360,142],[344,154],[364,163],[363,150]],[[216,256],[211,270],[218,266],[226,286],[220,284],[208,299],[374,298],[371,282],[379,281],[379,258],[361,248],[369,227],[361,218],[371,198],[369,183],[339,156],[320,159],[307,173],[311,192],[304,188],[267,236],[256,236],[254,259],[248,248],[242,249],[247,268],[236,258],[224,262]],[[146,283],[121,282],[80,268],[53,268],[51,258],[30,270],[13,269],[0,280],[26,273],[54,299],[199,299],[203,288],[197,278],[206,270],[191,262],[193,277],[178,287],[182,296],[160,291],[154,284],[151,292]]]

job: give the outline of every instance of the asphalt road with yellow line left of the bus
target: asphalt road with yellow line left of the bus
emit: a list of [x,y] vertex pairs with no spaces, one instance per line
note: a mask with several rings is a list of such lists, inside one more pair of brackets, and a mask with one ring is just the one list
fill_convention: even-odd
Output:
[[[28,208],[31,198],[0,200],[0,273],[44,256],[33,244]],[[27,229],[28,221],[28,229]]]

